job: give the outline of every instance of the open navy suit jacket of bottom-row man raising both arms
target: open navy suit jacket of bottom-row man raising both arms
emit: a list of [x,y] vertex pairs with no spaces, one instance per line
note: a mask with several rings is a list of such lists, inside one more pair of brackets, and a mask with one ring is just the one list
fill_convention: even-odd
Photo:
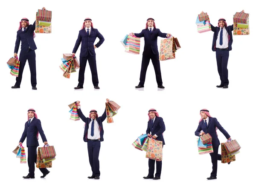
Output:
[[[88,129],[89,129],[89,123],[91,122],[91,118],[89,117],[85,117],[84,114],[81,112],[81,109],[77,109],[77,113],[79,115],[79,117],[81,118],[81,120],[84,121],[85,123],[85,127],[84,127],[84,142],[87,142],[87,133],[88,133]],[[99,130],[100,130],[100,141],[103,141],[103,134],[104,134],[104,130],[103,130],[103,125],[102,122],[106,119],[107,115],[106,115],[106,109],[104,111],[104,113],[102,114],[101,117],[96,118],[96,121],[99,124]]]

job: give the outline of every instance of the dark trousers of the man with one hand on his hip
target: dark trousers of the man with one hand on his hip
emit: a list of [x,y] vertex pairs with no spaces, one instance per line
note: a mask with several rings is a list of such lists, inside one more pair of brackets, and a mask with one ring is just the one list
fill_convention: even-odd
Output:
[[78,77],[78,85],[84,85],[84,71],[87,60],[90,65],[90,70],[92,73],[93,86],[97,86],[99,84],[97,66],[96,66],[96,56],[92,56],[88,53],[87,57],[80,57],[80,69],[79,69],[79,77]]

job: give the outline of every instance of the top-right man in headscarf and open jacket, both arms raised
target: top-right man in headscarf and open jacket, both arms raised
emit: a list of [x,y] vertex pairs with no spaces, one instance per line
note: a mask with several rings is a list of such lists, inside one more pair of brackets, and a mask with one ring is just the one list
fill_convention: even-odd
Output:
[[[241,12],[244,13],[244,10]],[[227,62],[229,51],[232,50],[233,25],[227,26],[226,20],[224,18],[220,18],[218,20],[218,26],[215,27],[211,24],[211,29],[214,32],[212,40],[212,51],[216,51],[218,74],[221,79],[221,84],[217,85],[216,87],[227,89],[229,84]]]

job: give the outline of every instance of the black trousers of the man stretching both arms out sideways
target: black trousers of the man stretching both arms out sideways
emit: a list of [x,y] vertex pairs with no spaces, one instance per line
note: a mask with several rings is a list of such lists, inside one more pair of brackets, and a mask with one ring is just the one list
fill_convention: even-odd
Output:
[[156,79],[157,79],[157,85],[163,85],[161,69],[160,69],[160,62],[159,62],[159,55],[158,54],[153,54],[152,51],[151,51],[151,53],[148,53],[148,54],[143,53],[142,63],[141,63],[141,70],[140,70],[140,83],[139,84],[144,86],[146,72],[147,72],[147,69],[148,69],[148,64],[149,64],[150,59],[152,60],[152,63],[153,63],[153,66],[154,66],[154,71],[155,71]]

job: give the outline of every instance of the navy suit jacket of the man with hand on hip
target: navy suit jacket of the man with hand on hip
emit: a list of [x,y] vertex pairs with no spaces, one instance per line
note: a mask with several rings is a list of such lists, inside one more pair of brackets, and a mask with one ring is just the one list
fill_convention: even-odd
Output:
[[78,34],[78,38],[76,40],[75,47],[72,51],[72,53],[76,53],[80,43],[81,45],[81,51],[80,51],[80,57],[87,57],[88,51],[90,55],[94,56],[96,55],[95,50],[94,50],[94,42],[96,40],[96,37],[99,38],[99,42],[95,45],[97,48],[101,46],[101,44],[104,42],[104,37],[102,34],[99,33],[98,29],[93,29],[91,27],[90,35],[88,36],[85,29],[81,29]]

